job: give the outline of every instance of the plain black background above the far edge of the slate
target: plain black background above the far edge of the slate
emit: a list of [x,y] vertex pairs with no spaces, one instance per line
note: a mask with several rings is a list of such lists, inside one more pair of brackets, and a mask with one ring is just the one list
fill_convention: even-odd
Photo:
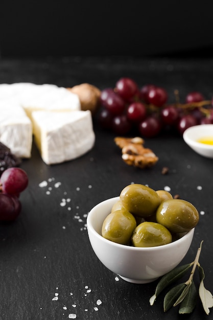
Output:
[[2,56],[212,53],[211,1],[2,0]]

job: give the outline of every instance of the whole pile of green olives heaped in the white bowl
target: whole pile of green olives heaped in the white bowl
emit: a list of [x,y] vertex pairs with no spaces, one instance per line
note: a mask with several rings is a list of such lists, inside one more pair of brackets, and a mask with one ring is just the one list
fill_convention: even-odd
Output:
[[171,243],[198,221],[192,203],[174,199],[168,191],[132,184],[122,190],[105,218],[102,236],[120,244],[153,247]]

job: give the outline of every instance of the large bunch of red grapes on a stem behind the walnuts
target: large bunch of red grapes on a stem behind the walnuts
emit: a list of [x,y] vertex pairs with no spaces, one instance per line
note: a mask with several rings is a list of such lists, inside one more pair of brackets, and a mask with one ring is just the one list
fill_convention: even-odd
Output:
[[102,108],[99,123],[105,129],[125,135],[136,129],[139,135],[151,138],[162,129],[175,129],[182,134],[188,127],[213,124],[212,101],[205,101],[199,92],[186,96],[180,104],[167,104],[168,94],[162,87],[146,84],[139,88],[131,78],[121,78],[115,88],[101,92]]

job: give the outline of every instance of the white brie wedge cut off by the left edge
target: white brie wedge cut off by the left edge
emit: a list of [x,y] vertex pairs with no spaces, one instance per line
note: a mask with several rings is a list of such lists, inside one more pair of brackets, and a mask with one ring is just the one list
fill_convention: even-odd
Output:
[[14,103],[0,101],[0,141],[21,158],[29,158],[32,148],[32,123],[25,111]]

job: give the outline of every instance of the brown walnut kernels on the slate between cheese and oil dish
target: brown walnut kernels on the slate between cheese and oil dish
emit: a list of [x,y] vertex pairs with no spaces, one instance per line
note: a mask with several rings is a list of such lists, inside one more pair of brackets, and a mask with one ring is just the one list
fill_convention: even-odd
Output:
[[158,161],[158,157],[151,149],[144,148],[144,140],[140,137],[114,139],[117,146],[122,149],[122,159],[129,166],[138,168],[152,167]]

